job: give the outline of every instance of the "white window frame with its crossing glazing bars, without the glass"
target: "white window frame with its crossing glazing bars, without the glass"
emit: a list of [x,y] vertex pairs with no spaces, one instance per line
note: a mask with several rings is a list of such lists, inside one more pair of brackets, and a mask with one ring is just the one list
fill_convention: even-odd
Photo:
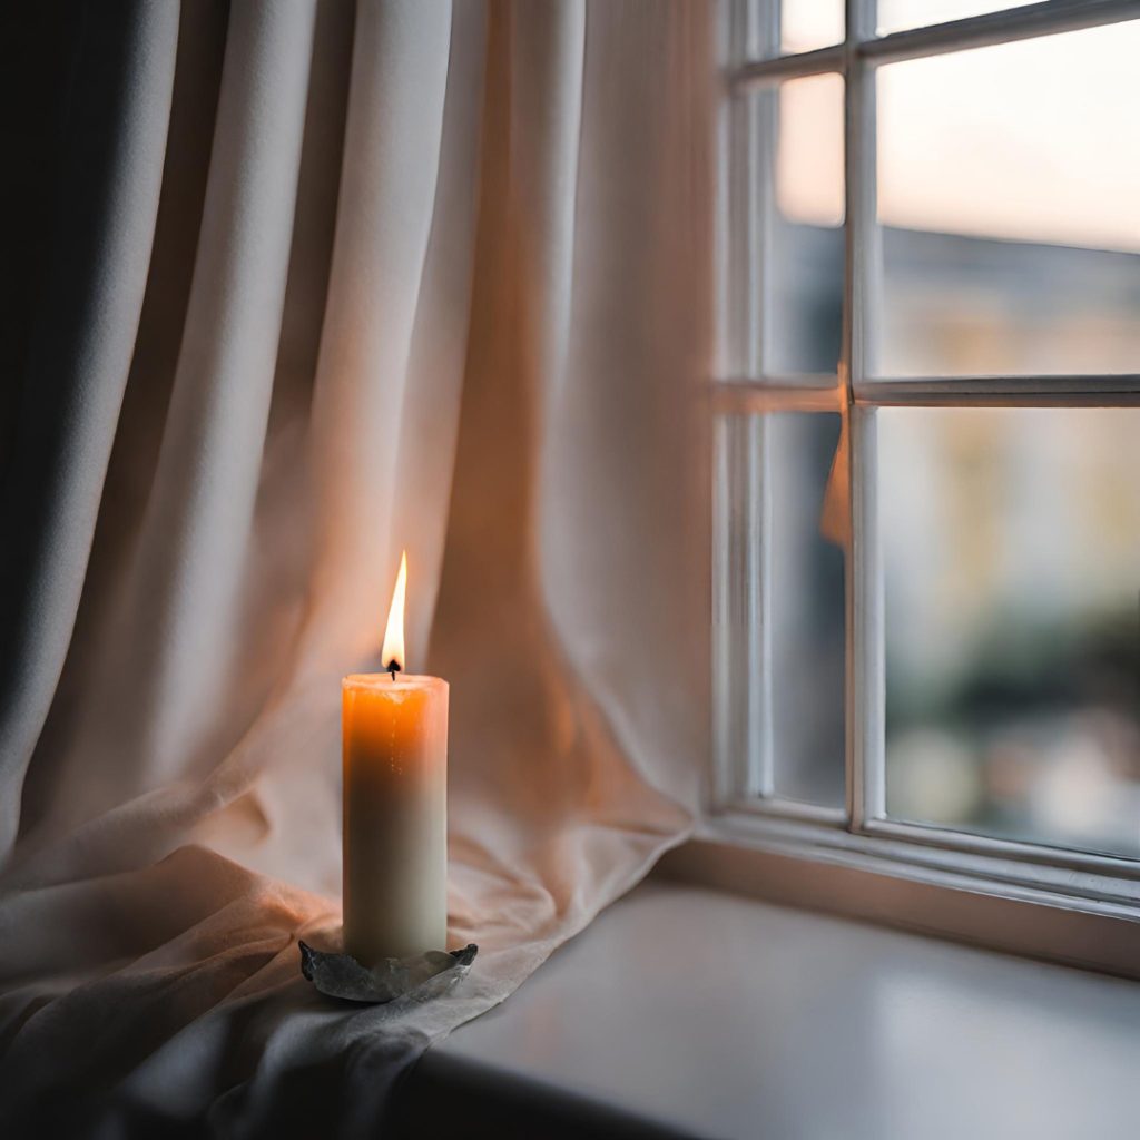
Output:
[[[736,27],[751,26],[754,31],[760,27],[762,41],[766,35],[769,44],[780,42],[780,22],[771,6],[752,3],[733,7]],[[927,377],[922,377],[921,373],[918,377],[907,373],[907,378],[899,381],[883,382],[878,378],[874,364],[883,319],[885,231],[877,220],[876,144],[879,123],[876,76],[879,70],[899,59],[925,59],[946,51],[964,51],[979,44],[1003,41],[1029,41],[1045,33],[1065,34],[1097,23],[1118,26],[1138,11],[1134,5],[1121,3],[1101,6],[1098,13],[1090,15],[1080,5],[1058,2],[1048,9],[1034,6],[1021,16],[1016,11],[1001,13],[994,18],[967,21],[952,28],[904,32],[888,40],[876,38],[873,3],[849,0],[847,11],[848,39],[833,51],[824,49],[807,57],[775,59],[769,58],[774,55],[771,50],[750,55],[736,51],[734,55],[738,60],[758,62],[741,63],[730,76],[730,96],[725,104],[722,140],[725,144],[723,169],[726,177],[724,230],[719,247],[723,253],[726,315],[722,327],[727,340],[722,352],[719,378],[723,382],[717,385],[717,409],[722,424],[741,424],[763,417],[772,420],[779,414],[811,418],[821,412],[838,412],[844,418],[841,442],[833,455],[824,498],[830,534],[834,537],[842,531],[838,537],[846,555],[844,722],[847,801],[842,811],[823,808],[819,804],[800,804],[784,790],[787,781],[782,788],[774,779],[781,764],[772,712],[773,703],[779,703],[771,682],[776,671],[776,648],[772,636],[773,622],[769,620],[765,626],[762,619],[765,613],[771,616],[767,608],[776,604],[772,596],[775,576],[768,568],[763,580],[742,583],[734,579],[730,567],[735,567],[739,572],[741,562],[726,557],[722,530],[716,538],[715,552],[718,597],[715,632],[717,804],[759,812],[762,817],[792,815],[811,821],[811,826],[833,826],[845,848],[850,842],[857,846],[861,837],[865,837],[869,852],[873,849],[881,854],[889,848],[896,853],[891,857],[897,857],[898,850],[910,848],[919,863],[929,862],[929,853],[935,847],[942,847],[948,857],[960,858],[962,868],[979,865],[970,863],[977,856],[968,853],[990,853],[1000,854],[1002,858],[1025,860],[1027,866],[1036,864],[1042,870],[1048,869],[1050,863],[1057,863],[1065,868],[1086,868],[1089,873],[1119,873],[1131,883],[1140,864],[1102,857],[1097,853],[1098,846],[1102,845],[1082,841],[1075,844],[1070,852],[1050,854],[1053,848],[1045,846],[1040,836],[1029,837],[1028,841],[1010,841],[1001,838],[997,829],[991,829],[986,836],[974,838],[966,828],[945,825],[944,821],[929,821],[938,825],[928,828],[925,823],[915,825],[896,821],[887,814],[885,568],[877,503],[880,480],[876,471],[879,409],[994,402],[1045,407],[1074,402],[1126,406],[1140,402],[1140,376],[1131,373],[1098,374],[1096,364],[1092,364],[1077,376],[1068,373],[1023,373],[1011,368],[1004,374],[987,376],[961,373],[955,376],[951,372]],[[750,25],[746,17],[751,18]],[[780,287],[779,260],[774,256],[777,253],[775,243],[763,238],[771,235],[780,212],[775,170],[777,148],[772,145],[774,135],[762,136],[757,146],[749,141],[756,138],[755,133],[739,129],[740,108],[747,105],[750,95],[771,92],[781,84],[821,73],[832,75],[833,81],[838,79],[845,84],[848,132],[845,141],[847,185],[841,231],[845,249],[838,380],[819,374],[784,374],[773,367],[772,345],[776,343],[779,333],[779,326],[774,327],[774,312],[779,310],[773,303]],[[790,146],[787,133],[783,145]],[[747,170],[747,178],[741,178],[742,169]],[[889,230],[886,233],[889,235]],[[738,241],[742,235],[746,239]],[[829,335],[833,335],[833,327]],[[763,433],[765,429],[757,430]],[[724,433],[718,433],[718,438],[723,440]],[[734,510],[759,520],[752,526],[750,537],[751,548],[759,553],[750,564],[763,570],[763,552],[771,549],[774,542],[771,494],[775,478],[767,466],[772,461],[771,447],[766,450],[759,448],[758,454],[760,461],[749,467],[751,481],[748,483],[733,482],[728,470],[731,465],[718,464],[718,502],[722,503],[720,518],[724,518],[724,502],[731,499],[735,504]],[[749,497],[759,504],[757,510],[749,507]],[[733,609],[724,604],[732,597],[739,603],[742,596],[749,594],[755,601],[751,609],[742,609],[739,604]],[[732,613],[741,618],[746,610],[751,625],[725,624],[726,616]],[[740,652],[741,644],[748,646],[747,653]],[[750,670],[743,684],[739,671],[733,671],[742,668]],[[754,682],[757,678],[768,679],[756,685]],[[759,697],[756,695],[757,690]],[[747,693],[748,699],[734,700],[734,693]],[[740,731],[746,724],[748,731]],[[738,750],[738,746],[743,748],[743,752]],[[766,779],[757,781],[757,772]],[[780,824],[780,828],[783,826]],[[849,832],[846,837],[842,836],[845,831]],[[812,840],[819,841],[823,840]],[[887,842],[887,848],[881,846],[883,842]],[[876,847],[876,844],[880,846]],[[954,856],[954,852],[961,852],[961,855]],[[999,872],[995,870],[994,874]],[[1004,876],[1008,881],[1008,874],[1005,868],[999,878]],[[1064,885],[1068,881],[1060,871],[1058,874],[1056,882]],[[1137,895],[1132,886],[1122,889],[1129,898]]]

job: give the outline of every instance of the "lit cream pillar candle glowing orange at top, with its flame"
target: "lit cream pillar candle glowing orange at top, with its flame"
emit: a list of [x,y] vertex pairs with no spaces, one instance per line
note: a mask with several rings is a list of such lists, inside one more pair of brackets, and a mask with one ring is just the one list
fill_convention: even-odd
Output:
[[386,673],[342,685],[344,948],[374,966],[447,947],[447,682],[404,670],[407,554]]

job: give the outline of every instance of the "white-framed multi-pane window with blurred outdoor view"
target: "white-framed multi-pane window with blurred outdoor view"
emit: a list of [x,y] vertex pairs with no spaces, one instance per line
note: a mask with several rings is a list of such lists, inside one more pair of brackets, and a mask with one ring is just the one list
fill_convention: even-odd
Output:
[[1140,5],[724,15],[714,808],[1140,918]]

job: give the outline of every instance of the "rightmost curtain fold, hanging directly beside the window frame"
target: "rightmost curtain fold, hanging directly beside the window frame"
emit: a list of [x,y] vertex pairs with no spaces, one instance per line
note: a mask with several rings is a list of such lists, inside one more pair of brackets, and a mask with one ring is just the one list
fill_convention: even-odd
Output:
[[569,668],[683,804],[709,739],[710,58],[703,3],[588,7],[573,325],[537,522]]

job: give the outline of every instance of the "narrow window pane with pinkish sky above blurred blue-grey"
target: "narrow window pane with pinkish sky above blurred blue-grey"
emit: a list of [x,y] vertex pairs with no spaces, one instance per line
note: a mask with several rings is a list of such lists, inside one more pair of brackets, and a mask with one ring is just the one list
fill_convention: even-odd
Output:
[[844,81],[791,80],[777,100],[766,370],[833,373],[842,327]]

